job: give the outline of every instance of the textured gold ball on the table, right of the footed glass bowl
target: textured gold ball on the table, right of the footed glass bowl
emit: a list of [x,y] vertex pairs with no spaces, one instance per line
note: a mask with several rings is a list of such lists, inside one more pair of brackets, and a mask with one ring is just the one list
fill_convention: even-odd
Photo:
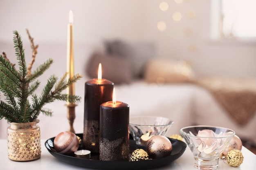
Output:
[[230,150],[226,155],[227,163],[231,166],[240,166],[243,163],[244,156],[240,150]]

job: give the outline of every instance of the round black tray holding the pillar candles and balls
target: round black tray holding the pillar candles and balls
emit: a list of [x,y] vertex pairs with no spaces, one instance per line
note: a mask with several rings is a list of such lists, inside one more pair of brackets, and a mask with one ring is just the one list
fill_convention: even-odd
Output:
[[[81,137],[81,139],[83,138],[83,134],[76,134],[76,135]],[[120,169],[142,170],[142,169],[157,168],[160,166],[165,166],[171,163],[172,161],[175,161],[186,150],[186,144],[183,141],[168,138],[171,141],[173,146],[173,150],[170,156],[157,158],[157,159],[149,159],[145,161],[100,161],[99,155],[92,155],[91,159],[83,159],[83,158],[77,158],[74,156],[59,154],[58,152],[56,152],[53,146],[54,138],[55,137],[52,137],[47,141],[45,141],[45,147],[57,159],[64,161],[65,163],[72,164],[74,166],[104,169],[104,170],[120,170]],[[131,135],[130,135],[129,142],[130,142],[130,153],[137,148],[141,148],[139,146],[136,146],[135,141],[132,139]]]

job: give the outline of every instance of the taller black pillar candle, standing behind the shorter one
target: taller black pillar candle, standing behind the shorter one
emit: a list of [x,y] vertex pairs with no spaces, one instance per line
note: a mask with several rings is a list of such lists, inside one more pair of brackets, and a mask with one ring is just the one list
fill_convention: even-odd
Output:
[[99,153],[100,105],[111,101],[114,83],[107,79],[91,79],[85,82],[83,147]]

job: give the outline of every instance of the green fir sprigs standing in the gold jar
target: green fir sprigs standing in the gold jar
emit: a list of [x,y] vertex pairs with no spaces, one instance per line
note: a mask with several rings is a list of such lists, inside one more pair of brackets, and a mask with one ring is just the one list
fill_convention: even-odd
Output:
[[52,116],[52,111],[44,108],[47,103],[55,100],[70,103],[80,102],[81,97],[77,95],[61,93],[81,78],[79,74],[66,80],[67,73],[65,73],[59,82],[56,75],[51,75],[40,96],[35,93],[40,85],[40,81],[37,78],[51,66],[53,60],[47,60],[32,73],[28,74],[20,34],[18,31],[13,31],[13,33],[13,43],[19,69],[16,70],[6,56],[0,55],[0,92],[5,96],[5,100],[0,99],[0,119],[17,123],[32,122],[40,113]]

